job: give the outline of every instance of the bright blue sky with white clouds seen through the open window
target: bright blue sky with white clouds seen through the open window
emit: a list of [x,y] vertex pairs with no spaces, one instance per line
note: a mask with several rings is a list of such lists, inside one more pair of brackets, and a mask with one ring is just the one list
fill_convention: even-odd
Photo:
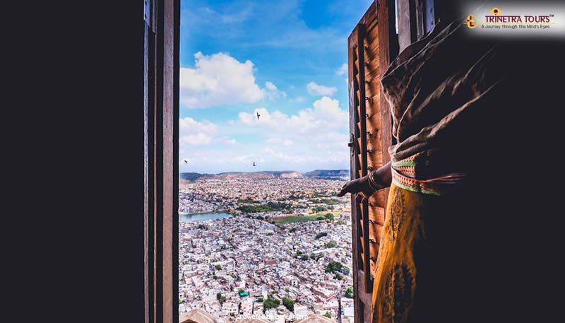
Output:
[[371,2],[182,0],[180,171],[348,169],[347,36]]

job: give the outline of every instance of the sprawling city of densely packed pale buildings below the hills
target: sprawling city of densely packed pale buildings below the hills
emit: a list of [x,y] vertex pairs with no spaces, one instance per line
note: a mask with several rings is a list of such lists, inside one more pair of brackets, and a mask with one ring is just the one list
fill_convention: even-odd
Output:
[[179,315],[353,322],[350,200],[335,196],[344,174],[181,179]]

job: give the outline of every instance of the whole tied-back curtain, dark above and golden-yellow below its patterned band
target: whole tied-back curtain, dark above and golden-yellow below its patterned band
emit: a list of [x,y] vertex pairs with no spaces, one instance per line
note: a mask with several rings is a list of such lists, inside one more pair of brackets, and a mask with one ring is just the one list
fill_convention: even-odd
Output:
[[477,160],[504,120],[493,102],[501,102],[506,65],[499,48],[469,41],[463,28],[460,20],[438,23],[381,79],[398,143],[389,149],[393,184],[374,275],[375,323],[488,321],[477,317],[493,286],[480,257],[492,259],[496,235],[471,220],[484,213],[474,194],[486,164]]

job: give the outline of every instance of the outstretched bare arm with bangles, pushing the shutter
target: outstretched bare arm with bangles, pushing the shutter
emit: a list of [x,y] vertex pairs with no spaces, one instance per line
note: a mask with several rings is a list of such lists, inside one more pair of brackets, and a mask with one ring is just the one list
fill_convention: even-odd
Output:
[[[375,183],[376,182],[376,183]],[[344,196],[346,193],[357,194],[355,197],[357,202],[366,201],[374,192],[379,189],[391,186],[391,162],[386,163],[378,170],[373,170],[369,175],[351,180],[343,185],[338,196]],[[377,185],[375,187],[375,184]]]

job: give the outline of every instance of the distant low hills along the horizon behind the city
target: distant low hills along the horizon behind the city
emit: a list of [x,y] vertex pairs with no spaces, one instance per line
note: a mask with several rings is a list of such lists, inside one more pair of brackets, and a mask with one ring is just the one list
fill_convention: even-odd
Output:
[[311,172],[296,172],[295,170],[271,170],[264,172],[220,172],[219,174],[201,174],[198,172],[182,172],[179,174],[181,180],[198,180],[201,177],[206,179],[218,179],[218,180],[233,180],[236,178],[256,178],[256,179],[267,179],[267,178],[302,178],[302,177],[314,177],[314,178],[339,178],[339,177],[349,177],[349,170],[312,170]]

